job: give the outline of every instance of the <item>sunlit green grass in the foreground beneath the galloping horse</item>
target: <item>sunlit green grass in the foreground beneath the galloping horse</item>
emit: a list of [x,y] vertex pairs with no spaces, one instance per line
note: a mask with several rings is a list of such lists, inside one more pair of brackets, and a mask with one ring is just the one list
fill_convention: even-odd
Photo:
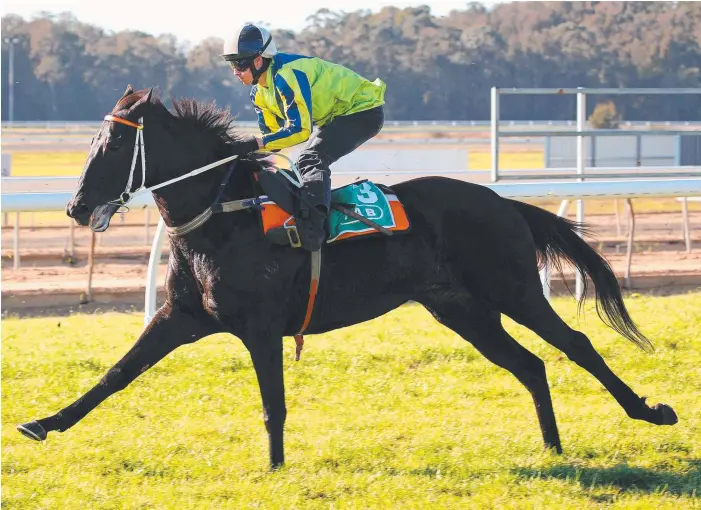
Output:
[[546,363],[564,454],[542,450],[527,391],[415,305],[285,340],[287,465],[267,470],[250,359],[217,335],[182,347],[44,444],[15,424],[95,384],[141,330],[140,315],[2,324],[2,507],[701,508],[701,293],[633,295],[657,350],[645,354],[591,307],[554,306],[674,427],[625,416],[582,369],[508,329]]

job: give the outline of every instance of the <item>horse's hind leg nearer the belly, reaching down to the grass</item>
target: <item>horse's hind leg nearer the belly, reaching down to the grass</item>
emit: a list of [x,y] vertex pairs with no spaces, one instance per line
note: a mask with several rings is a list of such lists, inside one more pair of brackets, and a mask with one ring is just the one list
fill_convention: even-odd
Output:
[[421,300],[441,324],[470,342],[489,361],[514,374],[528,389],[535,403],[546,448],[562,453],[555,423],[545,364],[516,342],[501,324],[501,314],[467,297],[432,297]]

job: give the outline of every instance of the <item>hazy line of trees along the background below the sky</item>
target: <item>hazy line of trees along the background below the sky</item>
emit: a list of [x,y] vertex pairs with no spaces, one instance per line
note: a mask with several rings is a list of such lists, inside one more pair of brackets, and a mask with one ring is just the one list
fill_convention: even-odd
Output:
[[[338,13],[300,32],[272,31],[278,48],[343,64],[387,83],[392,120],[486,120],[490,88],[699,87],[697,2],[472,2]],[[2,120],[8,118],[8,40],[14,40],[15,120],[95,120],[127,84],[164,99],[194,97],[255,118],[248,89],[221,60],[222,40],[110,32],[70,14],[2,18]],[[701,97],[596,96],[626,120],[701,120]],[[573,119],[573,96],[504,96],[503,119]]]

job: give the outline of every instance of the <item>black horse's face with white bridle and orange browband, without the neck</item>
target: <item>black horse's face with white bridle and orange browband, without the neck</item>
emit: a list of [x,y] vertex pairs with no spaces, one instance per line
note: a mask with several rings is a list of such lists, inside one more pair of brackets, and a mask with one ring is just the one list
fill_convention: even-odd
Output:
[[151,90],[134,92],[131,85],[127,87],[93,138],[78,187],[66,206],[66,214],[80,225],[90,225],[95,232],[106,230],[123,194],[143,184],[139,142],[151,95]]

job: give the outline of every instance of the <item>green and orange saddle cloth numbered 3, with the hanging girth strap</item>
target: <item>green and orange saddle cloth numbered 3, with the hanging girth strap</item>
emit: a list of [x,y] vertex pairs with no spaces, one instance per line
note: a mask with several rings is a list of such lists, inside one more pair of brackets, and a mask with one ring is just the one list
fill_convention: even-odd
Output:
[[[304,248],[312,252],[309,301],[304,323],[295,335],[299,360],[304,331],[311,320],[321,273],[321,246],[311,222],[323,221],[314,203],[305,198],[305,188],[292,185],[280,172],[261,169],[255,180],[266,196],[261,197],[261,220],[265,237],[274,244]],[[391,188],[360,181],[331,191],[331,210],[326,221],[325,242],[333,243],[366,235],[408,232],[409,219]],[[323,241],[321,243],[323,245]]]

